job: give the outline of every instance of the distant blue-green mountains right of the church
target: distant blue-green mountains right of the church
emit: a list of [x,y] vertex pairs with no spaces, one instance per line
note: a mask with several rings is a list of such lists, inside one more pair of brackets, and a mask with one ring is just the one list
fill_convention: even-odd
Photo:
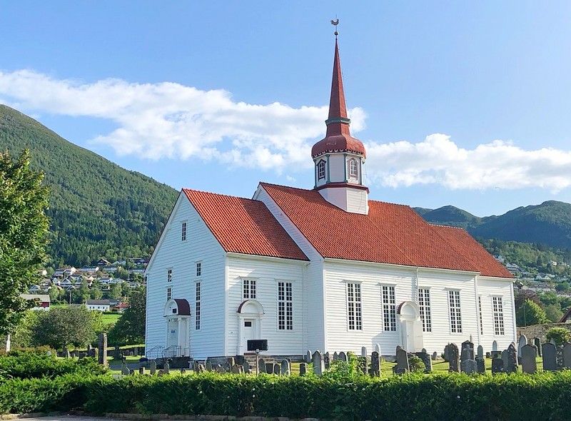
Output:
[[[420,209],[420,210],[417,210]],[[466,228],[477,238],[496,238],[571,249],[571,204],[547,201],[515,208],[499,216],[479,218],[454,206],[415,208],[430,223]]]

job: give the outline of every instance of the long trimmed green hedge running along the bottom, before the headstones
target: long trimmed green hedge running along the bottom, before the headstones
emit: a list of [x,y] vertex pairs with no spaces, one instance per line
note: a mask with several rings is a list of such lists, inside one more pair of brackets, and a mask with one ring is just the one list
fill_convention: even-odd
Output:
[[258,415],[338,420],[570,420],[571,372],[331,379],[66,375],[0,385],[0,412]]

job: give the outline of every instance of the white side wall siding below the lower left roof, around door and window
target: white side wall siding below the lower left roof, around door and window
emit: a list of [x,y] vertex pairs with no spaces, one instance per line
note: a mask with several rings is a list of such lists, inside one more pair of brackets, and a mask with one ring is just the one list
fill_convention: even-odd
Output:
[[[268,340],[268,355],[303,355],[303,266],[305,262],[228,256],[226,355],[236,355],[238,314],[244,301],[243,278],[256,280],[256,300],[263,306],[261,339]],[[278,281],[292,283],[293,330],[278,330]]]

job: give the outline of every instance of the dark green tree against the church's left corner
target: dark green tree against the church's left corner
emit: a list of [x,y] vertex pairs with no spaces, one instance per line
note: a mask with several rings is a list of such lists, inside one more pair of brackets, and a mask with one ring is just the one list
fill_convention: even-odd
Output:
[[109,331],[109,343],[137,345],[145,342],[145,288],[133,290],[129,308]]

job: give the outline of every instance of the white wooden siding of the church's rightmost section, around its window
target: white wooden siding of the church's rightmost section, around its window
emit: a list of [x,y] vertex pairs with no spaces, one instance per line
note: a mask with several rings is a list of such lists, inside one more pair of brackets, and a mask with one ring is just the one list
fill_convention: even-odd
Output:
[[[482,321],[484,334],[480,340],[484,352],[492,350],[492,342],[497,341],[497,349],[505,350],[515,341],[515,320],[513,318],[514,303],[512,300],[513,283],[511,280],[478,277],[477,292],[482,297]],[[504,335],[495,335],[492,297],[502,297],[504,315]]]

